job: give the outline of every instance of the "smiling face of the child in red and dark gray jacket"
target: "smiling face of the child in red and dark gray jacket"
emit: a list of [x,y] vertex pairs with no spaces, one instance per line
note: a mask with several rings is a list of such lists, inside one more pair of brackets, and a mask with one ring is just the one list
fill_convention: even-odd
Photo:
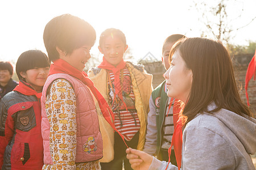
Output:
[[27,70],[26,72],[20,72],[20,75],[25,79],[26,83],[31,84],[35,91],[41,92],[48,73],[49,67],[35,67],[34,69]]

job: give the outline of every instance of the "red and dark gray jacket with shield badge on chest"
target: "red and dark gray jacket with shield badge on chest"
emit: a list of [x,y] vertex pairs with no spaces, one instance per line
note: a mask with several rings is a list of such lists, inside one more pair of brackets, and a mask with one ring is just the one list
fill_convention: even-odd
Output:
[[0,169],[42,169],[41,104],[12,91],[0,101]]

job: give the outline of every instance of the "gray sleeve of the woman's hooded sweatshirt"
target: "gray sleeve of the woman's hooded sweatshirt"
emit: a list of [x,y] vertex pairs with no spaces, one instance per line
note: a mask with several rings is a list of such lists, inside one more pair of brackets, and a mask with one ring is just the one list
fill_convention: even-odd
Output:
[[232,148],[221,135],[203,127],[187,127],[183,133],[182,169],[235,169]]

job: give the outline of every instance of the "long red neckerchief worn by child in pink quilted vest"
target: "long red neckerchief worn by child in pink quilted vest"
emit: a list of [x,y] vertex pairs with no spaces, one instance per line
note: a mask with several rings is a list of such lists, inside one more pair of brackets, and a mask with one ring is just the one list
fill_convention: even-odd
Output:
[[[75,67],[69,65],[68,62],[64,61],[63,59],[56,59],[50,67],[49,75],[57,74],[57,73],[64,73],[71,75],[79,80],[82,81],[86,86],[90,88],[90,91],[92,91],[92,94],[98,101],[98,105],[100,106],[101,112],[105,118],[105,120],[109,123],[109,125],[121,136],[123,139],[123,142],[125,142],[125,138],[123,135],[115,128],[114,123],[114,113],[112,112],[112,109],[110,109],[108,103],[106,103],[106,100],[101,95],[101,93],[98,91],[98,89],[94,86],[92,80],[88,78],[88,75],[84,71],[79,71]],[[111,116],[111,117],[110,117]],[[126,143],[125,143],[126,145]],[[127,145],[126,145],[127,146]],[[128,148],[128,146],[127,146]]]

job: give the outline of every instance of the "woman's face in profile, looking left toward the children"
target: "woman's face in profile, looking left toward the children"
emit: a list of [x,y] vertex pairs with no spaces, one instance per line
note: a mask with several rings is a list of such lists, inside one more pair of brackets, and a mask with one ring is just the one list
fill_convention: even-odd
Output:
[[193,73],[188,69],[179,50],[172,56],[171,66],[164,74],[167,79],[167,95],[186,103],[191,92]]

